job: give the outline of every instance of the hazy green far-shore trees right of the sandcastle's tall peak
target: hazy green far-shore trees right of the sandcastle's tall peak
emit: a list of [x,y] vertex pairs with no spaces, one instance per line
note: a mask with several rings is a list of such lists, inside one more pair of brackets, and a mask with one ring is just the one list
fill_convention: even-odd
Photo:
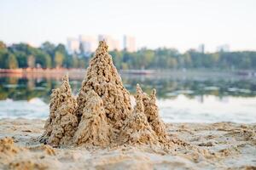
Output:
[[203,54],[193,49],[181,54],[177,49],[140,49],[136,53],[112,51],[119,69],[256,69],[256,52],[218,52]]

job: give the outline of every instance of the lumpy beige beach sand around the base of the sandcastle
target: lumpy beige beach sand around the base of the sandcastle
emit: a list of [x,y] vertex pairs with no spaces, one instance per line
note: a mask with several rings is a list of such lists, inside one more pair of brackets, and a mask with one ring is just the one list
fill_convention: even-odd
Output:
[[147,144],[53,148],[38,142],[44,121],[2,119],[0,168],[255,169],[255,128],[256,124],[230,122],[166,124],[169,137],[185,143],[172,150],[158,150]]

